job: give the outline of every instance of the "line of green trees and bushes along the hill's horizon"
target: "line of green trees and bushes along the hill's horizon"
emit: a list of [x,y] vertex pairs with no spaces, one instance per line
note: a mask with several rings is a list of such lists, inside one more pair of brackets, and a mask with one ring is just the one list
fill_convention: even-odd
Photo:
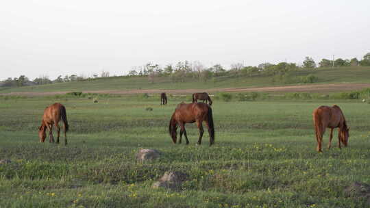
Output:
[[[267,62],[259,64],[258,66],[244,66],[242,63],[236,63],[232,64],[229,70],[226,70],[221,64],[206,67],[198,61],[177,62],[177,64],[168,64],[164,67],[161,67],[159,64],[147,63],[143,66],[133,67],[124,77],[147,77],[148,81],[151,83],[154,83],[158,77],[170,77],[173,82],[184,82],[189,78],[207,82],[216,77],[254,77],[261,75],[279,77],[292,70],[341,66],[370,66],[370,53],[365,54],[360,61],[355,57],[351,60],[343,60],[342,58],[336,60],[322,59],[320,62],[316,63],[312,57],[306,57],[301,66],[288,62],[280,62],[278,64]],[[62,77],[62,75],[60,75],[54,80],[49,79],[47,76],[40,76],[32,81],[25,77],[25,75],[21,75],[19,77],[9,77],[8,79],[0,81],[0,86],[21,87],[69,81],[90,81],[99,77],[110,77],[110,73],[102,71],[100,76],[94,74],[92,77],[82,75],[65,75]]]

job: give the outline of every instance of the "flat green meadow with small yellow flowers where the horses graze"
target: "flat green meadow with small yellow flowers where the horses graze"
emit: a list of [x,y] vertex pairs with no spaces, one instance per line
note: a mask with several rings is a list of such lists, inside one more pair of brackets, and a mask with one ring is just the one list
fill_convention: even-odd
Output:
[[[0,159],[12,162],[0,165],[0,207],[367,206],[343,190],[354,181],[370,183],[370,105],[215,101],[216,144],[210,147],[208,133],[195,146],[193,124],[187,125],[188,146],[172,144],[167,125],[179,101],[161,107],[124,97],[1,100]],[[66,106],[68,146],[38,142],[43,109],[55,102]],[[319,154],[312,109],[332,104],[341,106],[351,127],[349,147]],[[135,159],[140,148],[162,156],[142,164]],[[170,170],[188,174],[182,191],[153,190]]]

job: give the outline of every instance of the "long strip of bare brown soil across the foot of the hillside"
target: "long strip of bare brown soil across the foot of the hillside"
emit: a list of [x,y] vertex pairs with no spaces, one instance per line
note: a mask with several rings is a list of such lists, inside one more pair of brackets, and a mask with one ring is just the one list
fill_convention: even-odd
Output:
[[[341,92],[350,90],[360,90],[370,88],[370,83],[332,83],[332,84],[315,84],[302,86],[277,86],[263,88],[214,88],[214,89],[186,89],[186,90],[84,90],[84,93],[103,93],[103,94],[138,94],[148,93],[156,94],[167,92],[171,94],[190,94],[194,92]],[[24,96],[47,96],[55,94],[66,94],[64,92],[10,92],[1,95],[24,95]]]

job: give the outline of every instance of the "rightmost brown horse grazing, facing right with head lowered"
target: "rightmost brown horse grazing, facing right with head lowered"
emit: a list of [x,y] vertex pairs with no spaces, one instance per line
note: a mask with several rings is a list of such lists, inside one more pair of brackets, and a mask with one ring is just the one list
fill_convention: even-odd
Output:
[[314,109],[313,112],[314,120],[314,131],[316,133],[317,140],[317,151],[322,153],[321,144],[323,142],[323,134],[325,133],[326,128],[330,128],[330,138],[328,148],[332,145],[333,138],[333,129],[338,129],[338,147],[341,148],[341,142],[344,146],[348,144],[349,138],[349,127],[347,127],[347,122],[341,108],[338,105],[329,106],[320,106],[317,109]]

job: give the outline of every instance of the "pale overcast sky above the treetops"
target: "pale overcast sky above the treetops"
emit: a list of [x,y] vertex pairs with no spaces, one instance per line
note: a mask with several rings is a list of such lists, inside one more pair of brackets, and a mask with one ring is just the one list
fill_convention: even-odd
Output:
[[1,1],[0,79],[370,52],[370,1]]

